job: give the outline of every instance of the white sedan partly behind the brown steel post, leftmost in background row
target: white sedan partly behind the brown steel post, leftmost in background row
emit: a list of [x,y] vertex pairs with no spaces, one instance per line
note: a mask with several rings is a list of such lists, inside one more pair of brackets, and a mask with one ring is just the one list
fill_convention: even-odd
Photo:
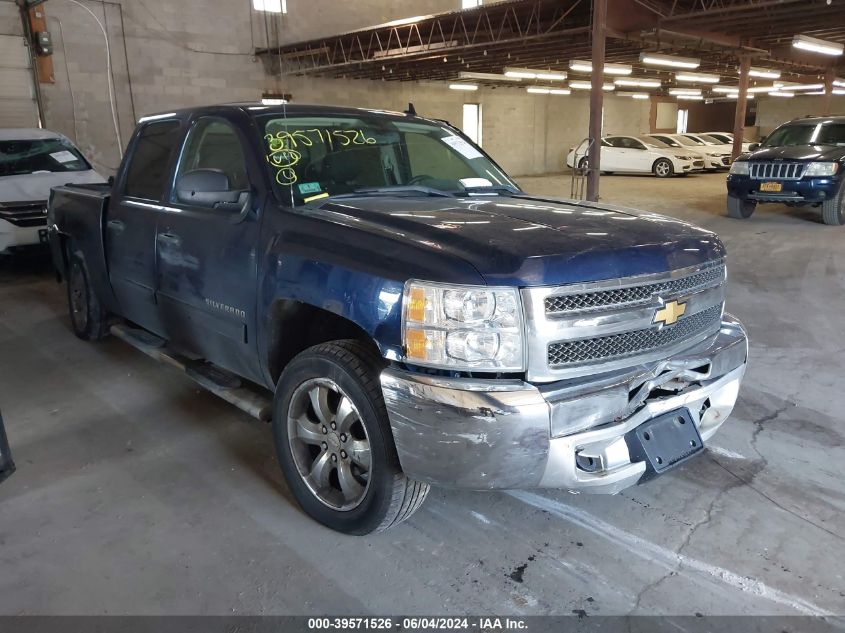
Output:
[[[686,158],[686,160],[684,160]],[[587,167],[587,141],[569,152],[569,167]],[[633,136],[605,136],[601,139],[601,170],[603,173],[651,173],[658,178],[693,171],[693,159],[645,143]]]

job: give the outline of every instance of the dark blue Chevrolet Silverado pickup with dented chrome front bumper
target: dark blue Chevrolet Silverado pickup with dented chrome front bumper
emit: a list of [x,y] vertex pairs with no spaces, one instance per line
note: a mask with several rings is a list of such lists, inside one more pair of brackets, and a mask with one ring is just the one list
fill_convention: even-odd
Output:
[[149,116],[111,188],[53,190],[49,231],[76,334],[272,421],[348,533],[430,484],[618,492],[699,453],[745,372],[715,235],[530,196],[413,114]]

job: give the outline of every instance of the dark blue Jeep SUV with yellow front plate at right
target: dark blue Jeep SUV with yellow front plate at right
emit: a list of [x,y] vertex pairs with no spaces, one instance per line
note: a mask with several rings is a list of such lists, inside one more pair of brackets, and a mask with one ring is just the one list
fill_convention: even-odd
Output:
[[845,117],[785,123],[731,165],[728,215],[750,218],[758,204],[821,207],[825,224],[845,224]]

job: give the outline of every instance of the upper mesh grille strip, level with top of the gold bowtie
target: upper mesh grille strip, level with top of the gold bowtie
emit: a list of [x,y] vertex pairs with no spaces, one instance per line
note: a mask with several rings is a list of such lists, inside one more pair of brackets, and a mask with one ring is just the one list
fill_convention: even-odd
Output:
[[705,288],[718,286],[725,278],[725,266],[717,265],[698,273],[652,284],[615,288],[599,292],[568,294],[547,297],[546,314],[555,316],[572,312],[584,312],[598,309],[629,308],[650,303],[655,295],[664,299],[684,293],[693,293]]

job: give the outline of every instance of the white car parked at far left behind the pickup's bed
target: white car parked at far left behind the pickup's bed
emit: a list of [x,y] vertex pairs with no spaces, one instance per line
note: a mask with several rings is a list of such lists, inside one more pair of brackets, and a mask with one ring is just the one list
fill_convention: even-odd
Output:
[[0,254],[47,240],[50,189],[105,182],[69,139],[39,129],[0,129]]

